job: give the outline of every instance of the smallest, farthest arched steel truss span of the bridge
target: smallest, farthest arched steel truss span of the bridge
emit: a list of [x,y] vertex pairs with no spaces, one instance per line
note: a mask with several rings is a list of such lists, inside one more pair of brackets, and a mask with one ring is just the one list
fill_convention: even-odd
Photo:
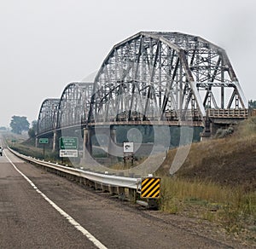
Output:
[[38,114],[38,135],[55,130],[59,99],[46,99]]

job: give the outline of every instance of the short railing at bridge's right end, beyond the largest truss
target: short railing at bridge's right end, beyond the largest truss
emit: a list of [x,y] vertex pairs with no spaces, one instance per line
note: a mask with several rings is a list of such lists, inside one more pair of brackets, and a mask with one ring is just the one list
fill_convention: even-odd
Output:
[[247,119],[248,109],[208,109],[209,118]]

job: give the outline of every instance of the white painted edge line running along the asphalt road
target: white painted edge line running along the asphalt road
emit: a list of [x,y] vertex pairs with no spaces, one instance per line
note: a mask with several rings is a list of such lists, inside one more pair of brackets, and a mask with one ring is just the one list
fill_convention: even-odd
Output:
[[9,159],[9,157],[4,152],[6,158],[9,160],[10,164],[14,166],[15,170],[20,173],[22,177],[26,179],[27,182],[30,183],[32,188],[34,188],[38,194],[41,194],[44,200],[48,201],[51,206],[55,208],[56,211],[58,211],[63,217],[67,219],[69,223],[71,223],[76,229],[78,229],[84,236],[87,237],[88,240],[90,240],[96,247],[99,249],[108,249],[106,246],[102,244],[101,241],[97,240],[93,235],[91,235],[84,227],[82,227],[77,221],[73,219],[73,217],[69,216],[66,211],[63,211],[61,207],[57,206],[52,200],[49,200],[49,198],[39,190],[39,188],[28,178],[26,175],[24,175],[18,168],[15,166],[15,164]]

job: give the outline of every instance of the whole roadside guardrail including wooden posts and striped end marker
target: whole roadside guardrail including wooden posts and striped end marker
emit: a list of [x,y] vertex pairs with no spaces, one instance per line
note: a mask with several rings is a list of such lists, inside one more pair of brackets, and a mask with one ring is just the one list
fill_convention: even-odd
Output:
[[[145,179],[148,180],[147,178],[119,177],[91,171],[83,171],[64,165],[57,165],[51,162],[42,161],[40,159],[34,159],[30,156],[17,153],[11,148],[9,148],[9,151],[14,153],[20,159],[24,159],[32,164],[40,165],[46,168],[47,171],[52,171],[57,175],[71,178],[72,180],[84,183],[84,185],[88,185],[96,189],[102,189],[103,191],[107,190],[111,194],[119,194],[119,198],[122,200],[125,199],[125,189],[128,189],[129,200],[137,202],[137,204],[141,206],[146,206],[149,209],[155,210],[159,208],[157,198],[160,196],[160,182],[157,182],[157,184],[154,184],[153,182],[152,186],[147,185],[145,187],[145,191],[149,194],[146,197],[147,201],[137,200],[137,193],[141,194],[142,197],[142,181]],[[149,177],[149,182],[151,182],[151,179],[159,180],[159,178],[154,179],[154,177]],[[155,196],[150,195],[151,192],[154,192],[154,194],[157,195],[156,198]]]

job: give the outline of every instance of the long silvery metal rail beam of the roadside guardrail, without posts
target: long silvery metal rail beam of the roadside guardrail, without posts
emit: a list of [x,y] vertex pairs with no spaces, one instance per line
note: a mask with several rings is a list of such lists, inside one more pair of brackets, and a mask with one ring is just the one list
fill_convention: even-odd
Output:
[[9,150],[18,156],[20,159],[25,159],[26,161],[47,167],[54,171],[59,171],[61,173],[73,176],[84,178],[91,182],[95,182],[96,184],[102,184],[105,187],[117,187],[117,188],[129,188],[138,190],[141,188],[142,178],[131,178],[131,177],[119,177],[108,174],[101,174],[91,171],[83,171],[79,169],[70,168],[63,165],[57,165],[54,163],[42,161],[39,159],[33,159],[32,157],[22,155],[20,153],[15,152],[13,149],[9,148]]

